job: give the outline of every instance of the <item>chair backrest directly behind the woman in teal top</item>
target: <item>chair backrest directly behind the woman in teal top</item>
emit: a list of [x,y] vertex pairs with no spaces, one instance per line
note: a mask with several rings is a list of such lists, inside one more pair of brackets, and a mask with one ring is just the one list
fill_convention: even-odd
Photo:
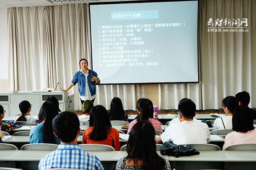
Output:
[[20,150],[56,150],[58,148],[58,144],[24,144]]

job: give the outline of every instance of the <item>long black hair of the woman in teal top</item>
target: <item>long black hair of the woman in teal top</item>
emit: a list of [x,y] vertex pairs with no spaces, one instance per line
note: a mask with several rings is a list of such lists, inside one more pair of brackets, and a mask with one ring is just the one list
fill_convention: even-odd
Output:
[[38,123],[44,121],[44,143],[55,144],[52,130],[52,119],[58,115],[58,109],[53,102],[44,102],[38,114]]

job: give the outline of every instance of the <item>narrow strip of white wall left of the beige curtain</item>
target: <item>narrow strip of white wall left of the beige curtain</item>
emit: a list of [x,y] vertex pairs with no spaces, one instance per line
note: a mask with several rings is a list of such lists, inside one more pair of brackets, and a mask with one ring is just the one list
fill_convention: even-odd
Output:
[[0,91],[9,91],[7,57],[7,8],[0,8]]

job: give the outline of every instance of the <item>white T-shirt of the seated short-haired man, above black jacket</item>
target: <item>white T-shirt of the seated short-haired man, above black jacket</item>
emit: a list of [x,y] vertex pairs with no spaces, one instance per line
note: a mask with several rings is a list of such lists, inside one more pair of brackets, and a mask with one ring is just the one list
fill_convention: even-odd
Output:
[[209,128],[206,123],[198,121],[182,121],[171,124],[161,135],[164,142],[174,144],[207,144],[211,140]]

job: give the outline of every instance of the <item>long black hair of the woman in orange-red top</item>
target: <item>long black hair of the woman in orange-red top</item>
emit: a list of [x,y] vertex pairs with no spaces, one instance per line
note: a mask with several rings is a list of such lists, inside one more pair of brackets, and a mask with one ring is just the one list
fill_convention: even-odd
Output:
[[109,127],[112,126],[104,106],[96,105],[91,109],[89,125],[93,126],[93,131],[89,135],[91,140],[102,141],[108,138]]

